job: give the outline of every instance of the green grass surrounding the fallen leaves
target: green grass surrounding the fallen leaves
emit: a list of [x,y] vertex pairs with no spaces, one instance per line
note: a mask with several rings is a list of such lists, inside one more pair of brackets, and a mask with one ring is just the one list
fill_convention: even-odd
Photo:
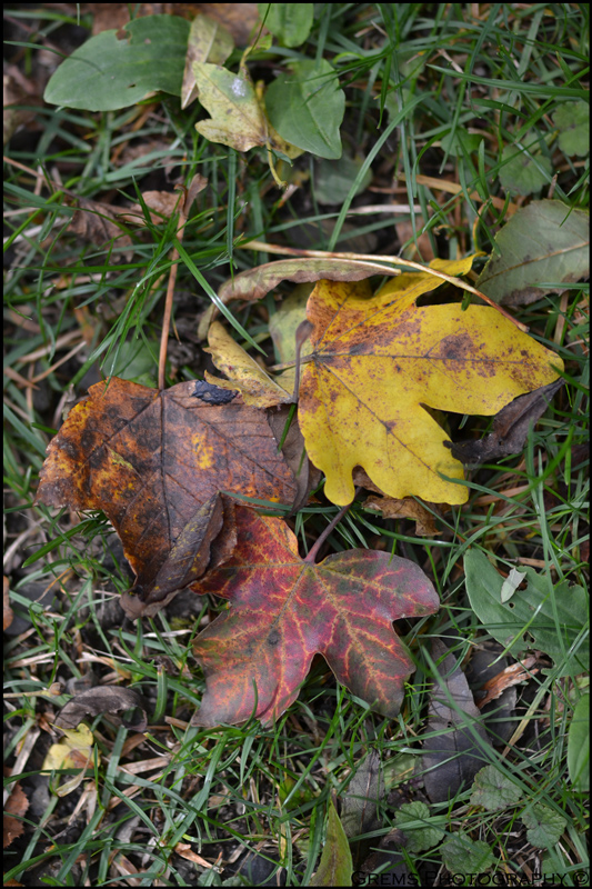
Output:
[[[430,251],[444,259],[489,253],[510,202],[524,202],[500,181],[508,166],[503,149],[519,142],[552,161],[553,174],[543,170],[544,186],[533,197],[552,193],[570,207],[588,208],[589,158],[564,154],[552,122],[566,100],[586,99],[588,4],[481,4],[479,21],[473,8],[320,4],[301,50],[334,64],[348,101],[344,153],[360,154],[359,173],[330,209],[318,201],[315,159],[304,154],[292,169],[283,167],[284,178],[300,182],[283,202],[262,150],[239,154],[198,137],[197,103],[181,111],[167,97],[98,114],[43,107],[39,97],[23,104],[29,129],[12,136],[4,163],[4,573],[11,605],[28,622],[4,648],[4,758],[12,769],[9,789],[18,780],[30,800],[33,791],[36,797],[33,813],[22,816],[22,837],[7,849],[8,877],[50,886],[241,885],[232,873],[249,850],[270,862],[268,877],[281,868],[287,885],[307,886],[319,867],[327,803],[331,797],[343,801],[372,749],[385,788],[378,827],[362,838],[367,849],[378,848],[395,826],[402,801],[420,800],[444,843],[460,833],[486,843],[496,876],[526,879],[542,869],[561,875],[565,886],[581,885],[586,798],[571,785],[566,743],[573,709],[589,686],[586,676],[562,676],[568,653],[554,667],[543,657],[538,666],[544,670],[516,687],[510,717],[515,738],[508,748],[480,747],[483,766],[494,765],[519,788],[518,805],[485,811],[470,802],[470,787],[431,803],[422,791],[421,751],[433,737],[427,725],[434,681],[430,643],[444,640],[465,667],[491,640],[464,591],[468,547],[494,555],[508,570],[530,565],[548,572],[555,587],[564,579],[588,586],[584,286],[572,284],[561,297],[550,290],[514,312],[556,350],[568,376],[523,455],[468,473],[468,503],[440,510],[433,538],[417,537],[411,521],[382,520],[361,502],[329,538],[332,551],[362,546],[411,559],[440,593],[438,615],[398,625],[418,665],[398,720],[370,712],[315,660],[298,701],[273,728],[255,721],[190,727],[204,686],[191,641],[219,603],[183,599],[191,606],[187,613],[160,612],[137,625],[122,623],[121,612],[109,618],[130,581],[104,517],[88,513],[80,523],[68,510],[53,515],[33,506],[46,446],[67,400],[113,372],[155,386],[174,241],[174,221],[162,220],[140,231],[120,223],[129,236],[123,248],[117,240],[93,243],[69,231],[73,211],[67,196],[119,204],[137,201],[153,181],[170,188],[169,177],[185,183],[197,172],[208,178],[179,260],[173,319],[181,346],[171,340],[170,384],[202,376],[198,319],[221,283],[274,259],[239,247],[239,238],[320,250],[401,249],[420,260],[430,259]],[[10,46],[9,59],[31,82],[46,76],[38,49],[43,40],[62,49],[66,39],[62,51],[71,51],[71,19],[18,7],[6,14],[9,39],[29,44]],[[90,17],[81,24],[90,29]],[[254,68],[257,77],[271,77],[268,68]],[[482,137],[474,150],[466,134]],[[132,157],[132,146],[150,151]],[[371,188],[382,190],[355,197],[370,168]],[[28,170],[39,170],[40,179]],[[450,183],[456,193],[446,190]],[[410,209],[351,212],[382,200]],[[231,306],[234,329],[257,342],[269,363],[277,360],[269,336],[275,310],[272,296],[257,306]],[[34,380],[37,389],[29,386]],[[469,438],[486,431],[489,421],[451,416],[449,422],[454,437]],[[299,512],[294,528],[303,552],[335,511],[319,493],[318,503]],[[34,599],[51,588],[54,601],[31,602],[31,583],[38,585]],[[59,797],[47,789],[48,776],[40,776],[57,740],[49,726],[91,669],[101,683],[121,682],[144,696],[149,729],[137,745],[137,736],[114,718],[97,717],[93,769],[78,790]],[[529,841],[522,821],[535,803],[565,819],[561,840],[545,849]],[[188,850],[200,859],[180,855]],[[442,867],[441,845],[400,853],[423,885],[425,873]]]

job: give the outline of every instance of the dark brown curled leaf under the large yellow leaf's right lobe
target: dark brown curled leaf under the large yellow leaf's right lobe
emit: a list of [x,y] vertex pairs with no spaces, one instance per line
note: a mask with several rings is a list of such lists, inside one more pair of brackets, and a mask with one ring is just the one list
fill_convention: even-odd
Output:
[[555,380],[533,392],[514,398],[495,414],[493,429],[480,441],[444,441],[452,456],[466,466],[478,466],[485,460],[499,460],[511,453],[520,453],[529,429],[543,416],[563,380]]

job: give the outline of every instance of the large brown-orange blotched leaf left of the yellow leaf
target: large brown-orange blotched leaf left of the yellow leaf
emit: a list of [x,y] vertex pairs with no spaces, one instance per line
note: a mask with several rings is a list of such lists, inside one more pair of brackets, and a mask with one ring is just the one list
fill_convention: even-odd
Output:
[[154,615],[229,555],[217,541],[232,523],[220,490],[283,503],[297,495],[264,411],[195,394],[195,382],[162,392],[118,378],[97,383],[41,470],[37,502],[101,509],[112,522],[136,573],[121,600],[133,618]]

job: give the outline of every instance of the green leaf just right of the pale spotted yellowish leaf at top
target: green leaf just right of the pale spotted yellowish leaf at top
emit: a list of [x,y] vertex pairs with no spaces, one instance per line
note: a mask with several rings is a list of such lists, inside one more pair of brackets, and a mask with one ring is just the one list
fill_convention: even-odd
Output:
[[294,62],[290,76],[274,80],[267,93],[269,119],[280,136],[320,158],[341,157],[339,128],[345,93],[325,59]]

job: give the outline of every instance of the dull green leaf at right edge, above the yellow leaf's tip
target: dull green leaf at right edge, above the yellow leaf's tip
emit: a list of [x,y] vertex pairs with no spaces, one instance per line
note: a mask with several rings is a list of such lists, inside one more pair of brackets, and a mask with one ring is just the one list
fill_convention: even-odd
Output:
[[[562,283],[590,274],[590,216],[561,201],[532,201],[518,210],[495,238],[476,287],[495,302],[534,302]],[[554,283],[556,287],[540,287]]]

